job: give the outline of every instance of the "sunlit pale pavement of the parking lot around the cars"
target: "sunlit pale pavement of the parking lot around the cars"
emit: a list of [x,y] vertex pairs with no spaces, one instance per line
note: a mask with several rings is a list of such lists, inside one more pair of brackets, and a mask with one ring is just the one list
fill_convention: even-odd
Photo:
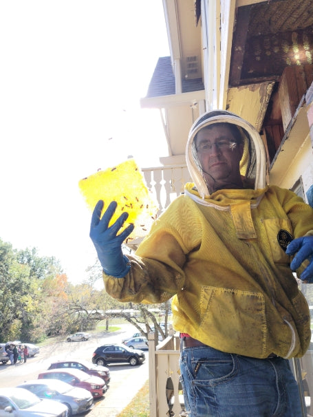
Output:
[[[18,365],[0,365],[0,387],[15,387],[24,381],[37,379],[39,372],[47,370],[50,363],[68,359],[85,359],[91,361],[92,354],[98,345],[120,343],[125,336],[134,332],[132,325],[118,325],[118,332],[111,334],[94,334],[89,341],[59,341],[53,345],[41,347],[41,352],[27,363]],[[95,400],[94,408],[88,417],[116,417],[132,400],[138,390],[149,378],[149,354],[142,365],[109,365],[111,382],[104,398]]]

